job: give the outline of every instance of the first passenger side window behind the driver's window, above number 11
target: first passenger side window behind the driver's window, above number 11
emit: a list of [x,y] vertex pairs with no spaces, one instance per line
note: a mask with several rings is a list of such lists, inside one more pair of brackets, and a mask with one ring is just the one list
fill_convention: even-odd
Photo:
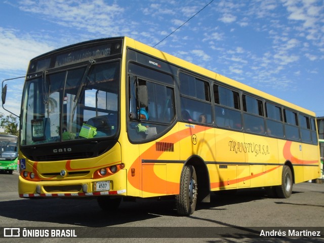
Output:
[[181,118],[184,121],[212,124],[209,83],[186,73],[179,73]]

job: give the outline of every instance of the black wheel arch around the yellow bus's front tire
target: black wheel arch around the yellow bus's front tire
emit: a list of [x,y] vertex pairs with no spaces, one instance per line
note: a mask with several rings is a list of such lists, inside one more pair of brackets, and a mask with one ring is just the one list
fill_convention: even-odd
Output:
[[[210,177],[207,164],[199,155],[190,156],[184,163],[184,166],[193,166],[197,176],[198,198],[202,203],[210,203]],[[183,169],[182,169],[183,170]]]

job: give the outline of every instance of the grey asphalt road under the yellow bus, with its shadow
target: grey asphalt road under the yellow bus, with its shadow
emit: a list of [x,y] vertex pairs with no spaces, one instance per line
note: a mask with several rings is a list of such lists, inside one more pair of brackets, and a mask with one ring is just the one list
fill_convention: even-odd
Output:
[[[23,199],[17,181],[15,172],[0,174],[0,227],[66,227],[88,238],[0,238],[3,242],[94,242],[93,237],[96,242],[151,242],[152,238],[154,242],[295,242],[298,238],[249,237],[261,230],[286,232],[295,227],[321,231],[321,237],[303,242],[324,242],[324,184],[295,184],[287,199],[269,198],[259,188],[234,195],[213,193],[211,203],[199,205],[190,217],[181,217],[173,199],[123,201],[113,213],[101,211],[97,201],[90,199]],[[224,234],[218,237],[211,232],[215,229]]]

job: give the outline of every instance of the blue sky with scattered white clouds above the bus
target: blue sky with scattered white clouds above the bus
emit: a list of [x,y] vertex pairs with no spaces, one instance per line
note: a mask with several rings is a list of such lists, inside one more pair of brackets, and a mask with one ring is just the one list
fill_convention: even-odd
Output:
[[[154,46],[210,3],[156,48],[324,116],[323,0],[0,1],[0,80],[90,39]],[[5,107],[16,114],[22,85],[9,83]]]

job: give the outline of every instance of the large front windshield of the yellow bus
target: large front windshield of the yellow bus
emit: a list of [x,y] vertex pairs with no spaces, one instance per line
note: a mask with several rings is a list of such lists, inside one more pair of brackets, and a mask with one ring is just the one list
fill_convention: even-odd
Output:
[[116,134],[119,61],[44,70],[23,91],[21,145]]

